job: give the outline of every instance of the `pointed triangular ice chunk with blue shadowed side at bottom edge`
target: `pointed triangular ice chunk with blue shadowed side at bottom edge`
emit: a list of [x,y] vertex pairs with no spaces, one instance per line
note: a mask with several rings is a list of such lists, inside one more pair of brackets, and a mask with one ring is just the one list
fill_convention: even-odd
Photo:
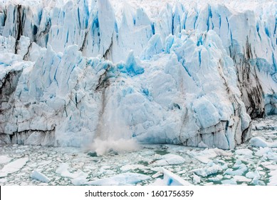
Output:
[[157,179],[153,184],[153,186],[189,186],[192,185],[189,181],[182,179],[182,177],[173,174],[171,171],[167,169],[162,169],[164,178]]

